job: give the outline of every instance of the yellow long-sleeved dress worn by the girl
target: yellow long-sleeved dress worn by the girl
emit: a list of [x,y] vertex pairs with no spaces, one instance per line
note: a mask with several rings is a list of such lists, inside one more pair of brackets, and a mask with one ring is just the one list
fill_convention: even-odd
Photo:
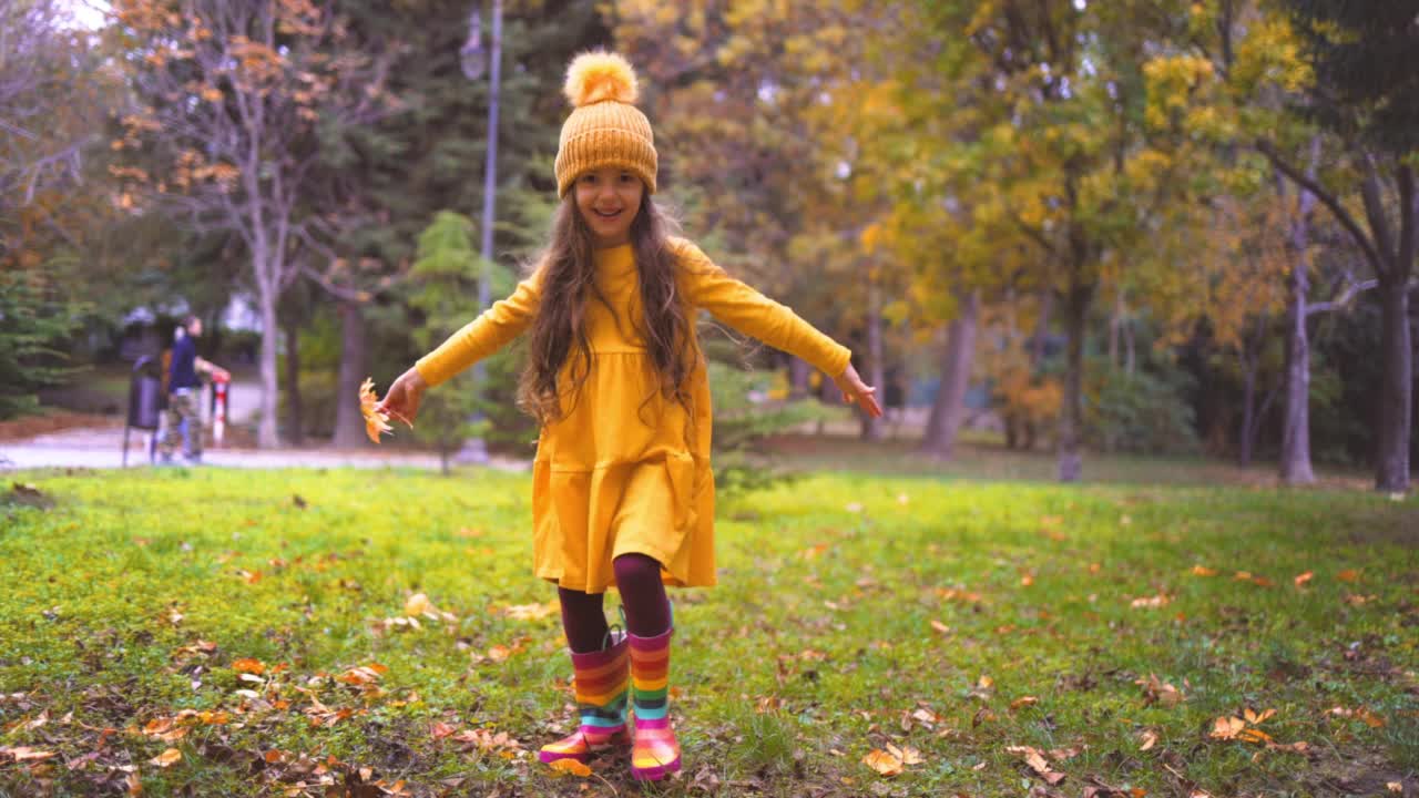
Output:
[[[698,310],[829,375],[850,352],[792,310],[729,277],[692,243],[674,239],[677,288]],[[438,385],[517,338],[536,314],[541,273],[454,332],[416,368]],[[702,358],[690,378],[694,423],[666,400],[640,328],[640,284],[630,244],[596,251],[596,285],[616,308],[586,308],[590,372],[563,417],[546,425],[532,463],[534,569],[563,588],[614,586],[612,559],[646,554],[670,585],[714,585],[714,476],[710,383]],[[617,324],[617,318],[620,324]],[[698,352],[698,345],[694,348]],[[563,372],[565,373],[565,372]]]

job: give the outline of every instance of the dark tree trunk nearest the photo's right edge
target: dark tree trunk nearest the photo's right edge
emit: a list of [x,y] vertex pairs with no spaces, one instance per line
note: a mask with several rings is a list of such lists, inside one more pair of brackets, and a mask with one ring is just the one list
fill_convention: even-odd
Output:
[[[1408,278],[1403,270],[1403,277]],[[1375,452],[1375,490],[1409,490],[1409,434],[1413,423],[1413,349],[1409,338],[1408,280],[1379,281],[1379,354],[1385,365],[1379,383],[1379,436]]]

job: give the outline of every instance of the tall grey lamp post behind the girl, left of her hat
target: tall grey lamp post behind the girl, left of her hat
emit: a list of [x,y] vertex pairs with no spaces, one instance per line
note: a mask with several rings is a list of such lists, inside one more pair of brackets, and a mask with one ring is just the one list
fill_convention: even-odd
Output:
[[[490,285],[492,280],[492,223],[498,186],[498,92],[502,84],[502,0],[492,0],[492,47],[487,61],[482,48],[482,10],[474,7],[468,20],[468,41],[458,50],[463,74],[470,81],[482,78],[488,68],[488,158],[482,168],[482,267],[478,275],[478,310],[487,311],[491,304]],[[475,390],[482,390],[487,369],[481,362],[473,366]],[[482,420],[481,412],[474,412],[474,422]],[[482,436],[463,442],[463,449],[454,456],[458,463],[487,463],[488,444]]]

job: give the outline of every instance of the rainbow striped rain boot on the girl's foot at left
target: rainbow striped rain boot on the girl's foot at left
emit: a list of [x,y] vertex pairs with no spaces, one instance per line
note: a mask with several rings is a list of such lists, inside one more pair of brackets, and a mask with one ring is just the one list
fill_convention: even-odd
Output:
[[626,635],[613,635],[614,645],[599,652],[572,652],[572,692],[582,724],[572,734],[548,743],[538,751],[545,764],[576,760],[582,764],[593,751],[610,745],[624,745],[626,690],[630,686],[630,645]]

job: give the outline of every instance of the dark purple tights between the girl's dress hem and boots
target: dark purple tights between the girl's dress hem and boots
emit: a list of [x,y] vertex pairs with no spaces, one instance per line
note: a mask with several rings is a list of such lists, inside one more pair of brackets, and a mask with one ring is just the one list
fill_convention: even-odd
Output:
[[[616,588],[626,608],[627,632],[637,638],[654,638],[670,629],[670,599],[660,581],[660,562],[644,554],[623,554],[612,565],[616,569]],[[562,599],[562,629],[572,650],[602,650],[607,632],[602,606],[604,594],[558,588],[556,595]]]

